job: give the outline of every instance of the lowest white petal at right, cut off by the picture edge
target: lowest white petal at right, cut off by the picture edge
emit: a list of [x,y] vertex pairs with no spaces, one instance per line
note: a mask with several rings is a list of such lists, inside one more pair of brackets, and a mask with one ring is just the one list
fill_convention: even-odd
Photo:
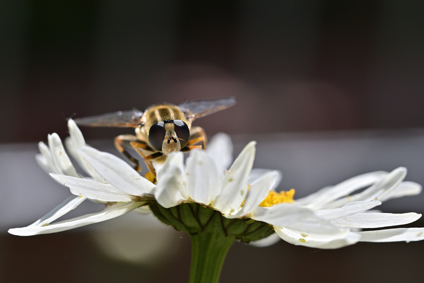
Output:
[[394,228],[359,232],[361,242],[400,242],[424,240],[424,228]]

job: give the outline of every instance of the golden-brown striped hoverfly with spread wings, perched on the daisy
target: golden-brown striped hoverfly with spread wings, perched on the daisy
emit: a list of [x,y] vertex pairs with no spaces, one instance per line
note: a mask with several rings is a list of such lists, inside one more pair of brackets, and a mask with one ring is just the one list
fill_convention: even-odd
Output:
[[185,101],[179,105],[162,103],[148,107],[75,119],[80,126],[134,128],[135,135],[115,137],[116,149],[141,171],[139,160],[126,148],[134,149],[144,160],[154,177],[152,161],[164,161],[173,151],[206,149],[206,134],[192,122],[206,115],[226,109],[236,103],[234,97]]

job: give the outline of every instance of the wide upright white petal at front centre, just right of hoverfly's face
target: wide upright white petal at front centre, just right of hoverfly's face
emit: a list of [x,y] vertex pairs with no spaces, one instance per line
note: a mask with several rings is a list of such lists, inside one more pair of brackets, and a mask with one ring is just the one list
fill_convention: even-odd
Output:
[[187,193],[195,202],[209,205],[221,193],[221,179],[215,163],[204,150],[190,152],[186,162]]

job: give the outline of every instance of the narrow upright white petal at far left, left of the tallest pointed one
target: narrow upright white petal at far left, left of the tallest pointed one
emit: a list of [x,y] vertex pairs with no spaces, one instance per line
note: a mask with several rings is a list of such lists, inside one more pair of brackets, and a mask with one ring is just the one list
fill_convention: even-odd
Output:
[[53,163],[56,165],[56,168],[61,171],[61,174],[81,178],[66,154],[59,135],[56,133],[49,134],[47,140],[49,141]]

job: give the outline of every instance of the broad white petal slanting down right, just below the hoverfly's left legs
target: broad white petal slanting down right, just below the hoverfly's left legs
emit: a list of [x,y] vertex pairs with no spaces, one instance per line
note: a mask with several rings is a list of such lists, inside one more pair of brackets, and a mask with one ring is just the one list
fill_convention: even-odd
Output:
[[89,163],[100,176],[120,191],[133,196],[153,193],[156,187],[152,182],[140,176],[124,160],[113,154],[83,146],[78,154]]

